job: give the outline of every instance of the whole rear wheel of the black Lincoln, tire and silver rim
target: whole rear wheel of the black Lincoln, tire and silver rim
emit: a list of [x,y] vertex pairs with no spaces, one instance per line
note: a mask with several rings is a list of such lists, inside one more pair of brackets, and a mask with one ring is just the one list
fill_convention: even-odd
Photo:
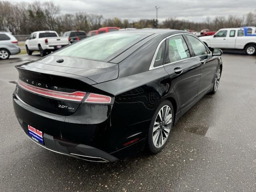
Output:
[[152,153],[160,152],[169,138],[174,119],[172,103],[165,100],[158,106],[148,131],[148,150]]

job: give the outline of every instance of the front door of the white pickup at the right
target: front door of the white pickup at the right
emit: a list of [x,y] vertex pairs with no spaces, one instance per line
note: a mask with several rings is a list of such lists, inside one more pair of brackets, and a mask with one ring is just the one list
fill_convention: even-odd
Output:
[[211,38],[212,48],[227,48],[228,30],[220,30]]

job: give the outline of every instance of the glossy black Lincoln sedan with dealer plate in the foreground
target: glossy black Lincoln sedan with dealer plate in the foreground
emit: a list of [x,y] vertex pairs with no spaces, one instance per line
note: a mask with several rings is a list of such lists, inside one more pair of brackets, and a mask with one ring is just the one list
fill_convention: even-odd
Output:
[[32,141],[60,154],[114,162],[145,146],[157,153],[178,119],[217,91],[221,54],[185,31],[98,35],[16,66],[14,112]]

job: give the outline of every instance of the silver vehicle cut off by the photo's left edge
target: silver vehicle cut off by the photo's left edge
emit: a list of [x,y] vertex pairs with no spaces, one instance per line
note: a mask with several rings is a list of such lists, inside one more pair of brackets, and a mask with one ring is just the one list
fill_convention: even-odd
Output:
[[18,53],[18,40],[8,32],[0,32],[0,59],[8,59],[10,55]]

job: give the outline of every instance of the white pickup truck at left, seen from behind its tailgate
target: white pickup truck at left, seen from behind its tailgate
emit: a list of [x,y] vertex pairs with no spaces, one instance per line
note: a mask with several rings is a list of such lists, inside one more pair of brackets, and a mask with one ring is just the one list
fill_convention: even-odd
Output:
[[41,56],[45,56],[68,44],[68,37],[59,37],[56,31],[33,32],[25,42],[26,50],[29,55],[31,55],[33,51],[39,51]]

